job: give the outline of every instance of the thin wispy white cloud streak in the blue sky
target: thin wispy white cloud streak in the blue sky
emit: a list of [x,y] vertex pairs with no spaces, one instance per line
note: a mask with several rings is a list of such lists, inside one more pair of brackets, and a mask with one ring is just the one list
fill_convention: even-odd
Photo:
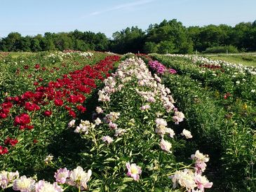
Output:
[[114,6],[112,8],[106,8],[105,10],[102,10],[102,11],[95,11],[93,13],[90,13],[90,15],[100,15],[102,13],[107,13],[107,12],[110,12],[110,11],[116,11],[116,10],[126,9],[126,8],[133,8],[135,6],[141,6],[141,5],[144,5],[144,4],[149,4],[152,1],[156,1],[156,0],[140,0],[140,1],[135,1],[135,2],[132,2],[132,3],[128,3],[128,4],[120,4],[120,5]]

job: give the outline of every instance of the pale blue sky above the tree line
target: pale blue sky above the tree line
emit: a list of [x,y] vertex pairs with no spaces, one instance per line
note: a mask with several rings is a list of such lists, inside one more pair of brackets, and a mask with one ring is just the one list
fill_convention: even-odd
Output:
[[185,26],[256,20],[255,0],[0,0],[0,37],[44,32],[103,32],[108,37],[126,27],[147,29],[163,19]]

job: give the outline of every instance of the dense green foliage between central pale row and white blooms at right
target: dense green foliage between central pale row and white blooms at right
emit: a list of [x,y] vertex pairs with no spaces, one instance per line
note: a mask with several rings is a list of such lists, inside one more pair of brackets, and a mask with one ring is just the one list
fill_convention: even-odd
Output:
[[[213,76],[213,69],[200,68],[181,57],[154,58],[177,71],[164,74],[162,80],[184,111],[198,149],[212,157],[208,177],[214,178],[213,188],[255,191],[255,92],[246,90],[255,87],[255,76],[237,74],[232,79],[229,74],[234,71],[223,69],[215,70],[217,76]],[[236,85],[239,76],[247,83]]]

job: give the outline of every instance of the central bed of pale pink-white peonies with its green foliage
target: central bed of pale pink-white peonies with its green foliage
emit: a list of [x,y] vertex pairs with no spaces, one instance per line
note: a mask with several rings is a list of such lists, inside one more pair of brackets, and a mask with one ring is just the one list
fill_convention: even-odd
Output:
[[142,60],[121,62],[98,95],[102,104],[95,109],[94,123],[69,123],[88,144],[82,153],[84,167],[93,172],[88,190],[189,191],[212,186],[202,175],[208,157],[197,151],[191,165],[176,162],[179,141],[192,135],[180,130],[184,115],[175,108],[170,90],[158,76],[151,76]]

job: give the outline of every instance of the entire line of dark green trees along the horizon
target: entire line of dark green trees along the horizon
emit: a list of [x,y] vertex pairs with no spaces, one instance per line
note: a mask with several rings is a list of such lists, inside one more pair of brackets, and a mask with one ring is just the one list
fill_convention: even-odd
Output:
[[108,39],[103,33],[74,32],[22,36],[11,32],[0,39],[1,51],[99,50],[114,53],[193,53],[255,51],[256,20],[229,25],[185,27],[175,19],[149,25],[147,30],[127,27]]

